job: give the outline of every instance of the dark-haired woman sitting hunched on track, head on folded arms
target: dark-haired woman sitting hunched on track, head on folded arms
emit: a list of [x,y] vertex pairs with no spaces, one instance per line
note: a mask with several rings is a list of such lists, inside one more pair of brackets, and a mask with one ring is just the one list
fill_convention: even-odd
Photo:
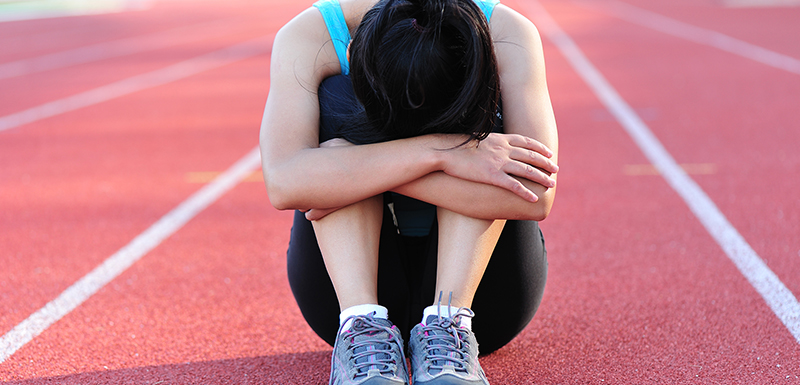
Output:
[[475,336],[510,341],[546,278],[557,134],[533,24],[496,0],[323,0],[270,71],[264,177],[296,210],[289,281],[331,384],[407,384],[403,341],[414,384],[488,383]]

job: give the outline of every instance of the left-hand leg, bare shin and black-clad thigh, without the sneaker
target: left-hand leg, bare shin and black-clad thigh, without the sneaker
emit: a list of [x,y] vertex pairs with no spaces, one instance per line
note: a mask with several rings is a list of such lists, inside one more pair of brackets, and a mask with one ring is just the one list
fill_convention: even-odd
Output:
[[[348,146],[331,139],[321,147]],[[378,244],[383,198],[373,197],[310,222],[295,213],[287,251],[292,294],[309,326],[329,344],[338,314],[353,305],[377,304]]]

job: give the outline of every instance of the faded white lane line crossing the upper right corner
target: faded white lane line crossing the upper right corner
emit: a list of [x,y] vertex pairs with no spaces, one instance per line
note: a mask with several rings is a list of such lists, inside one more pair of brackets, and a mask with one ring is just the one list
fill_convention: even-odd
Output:
[[633,24],[651,28],[695,43],[708,45],[741,57],[800,75],[800,59],[778,53],[728,35],[693,26],[621,1],[575,1]]

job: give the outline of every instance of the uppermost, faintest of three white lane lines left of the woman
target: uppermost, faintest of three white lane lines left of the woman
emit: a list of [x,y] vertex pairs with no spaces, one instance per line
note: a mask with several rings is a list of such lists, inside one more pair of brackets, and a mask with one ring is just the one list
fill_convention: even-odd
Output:
[[0,64],[0,79],[24,76],[37,72],[86,64],[103,59],[155,51],[216,36],[231,34],[242,29],[241,20],[226,19],[166,31],[92,44],[67,51],[16,60]]

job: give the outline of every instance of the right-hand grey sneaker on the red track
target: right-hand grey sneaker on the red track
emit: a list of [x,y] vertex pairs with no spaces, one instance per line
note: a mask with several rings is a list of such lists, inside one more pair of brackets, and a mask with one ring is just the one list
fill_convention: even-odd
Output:
[[430,315],[426,324],[411,329],[414,385],[489,385],[478,362],[478,342],[472,330],[459,326],[461,317],[475,313],[461,308],[455,315]]

